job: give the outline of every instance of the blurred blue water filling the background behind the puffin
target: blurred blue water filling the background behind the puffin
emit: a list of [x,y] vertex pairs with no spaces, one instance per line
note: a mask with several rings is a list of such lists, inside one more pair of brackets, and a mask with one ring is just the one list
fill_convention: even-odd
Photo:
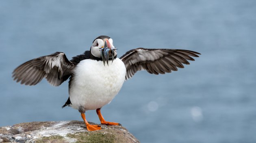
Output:
[[[61,109],[67,82],[15,83],[11,72],[56,51],[70,59],[100,35],[121,57],[137,48],[202,53],[171,74],[140,71],[102,109],[143,143],[256,143],[256,1],[1,0],[0,126],[82,120]],[[87,119],[99,123],[95,111]]]

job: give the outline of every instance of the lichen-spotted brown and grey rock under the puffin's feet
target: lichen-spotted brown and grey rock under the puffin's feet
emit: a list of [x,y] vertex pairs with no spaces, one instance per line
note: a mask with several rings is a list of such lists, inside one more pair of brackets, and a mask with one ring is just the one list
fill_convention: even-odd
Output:
[[[90,123],[94,124],[94,123]],[[81,121],[28,122],[0,127],[0,142],[16,143],[139,143],[122,126],[100,125],[87,131]]]

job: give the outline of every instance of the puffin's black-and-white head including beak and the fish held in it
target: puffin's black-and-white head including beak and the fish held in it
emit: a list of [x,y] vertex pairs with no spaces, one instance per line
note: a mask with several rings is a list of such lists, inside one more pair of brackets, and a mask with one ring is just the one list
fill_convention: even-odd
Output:
[[108,60],[114,60],[117,56],[117,48],[113,45],[113,40],[108,36],[99,36],[93,40],[91,45],[91,54],[94,57],[102,58],[105,65],[105,61],[108,64]]

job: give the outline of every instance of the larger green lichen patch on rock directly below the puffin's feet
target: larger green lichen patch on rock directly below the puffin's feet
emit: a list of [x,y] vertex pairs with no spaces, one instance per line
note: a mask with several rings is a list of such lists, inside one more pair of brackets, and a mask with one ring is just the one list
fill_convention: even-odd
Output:
[[77,139],[76,143],[115,143],[115,135],[104,131],[79,132],[67,137]]

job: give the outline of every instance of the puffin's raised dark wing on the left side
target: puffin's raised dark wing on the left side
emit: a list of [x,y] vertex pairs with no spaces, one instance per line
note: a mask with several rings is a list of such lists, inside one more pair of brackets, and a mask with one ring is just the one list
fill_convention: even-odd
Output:
[[23,63],[13,71],[13,78],[25,85],[35,85],[46,78],[51,85],[59,86],[69,78],[74,66],[64,53],[56,52]]

